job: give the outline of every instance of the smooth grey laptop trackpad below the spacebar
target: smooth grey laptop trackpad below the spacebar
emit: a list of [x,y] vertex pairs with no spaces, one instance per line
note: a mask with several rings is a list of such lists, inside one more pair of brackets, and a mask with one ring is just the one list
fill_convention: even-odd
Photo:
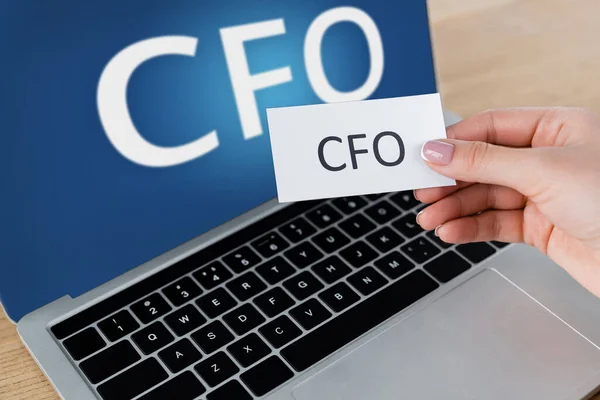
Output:
[[600,351],[486,270],[293,391],[319,399],[565,399]]

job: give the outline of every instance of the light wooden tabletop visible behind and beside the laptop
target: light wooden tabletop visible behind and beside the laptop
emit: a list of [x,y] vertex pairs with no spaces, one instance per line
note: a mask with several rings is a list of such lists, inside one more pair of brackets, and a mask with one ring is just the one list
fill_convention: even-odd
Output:
[[[600,0],[430,0],[430,16],[446,108],[600,111]],[[0,310],[0,399],[57,398]]]

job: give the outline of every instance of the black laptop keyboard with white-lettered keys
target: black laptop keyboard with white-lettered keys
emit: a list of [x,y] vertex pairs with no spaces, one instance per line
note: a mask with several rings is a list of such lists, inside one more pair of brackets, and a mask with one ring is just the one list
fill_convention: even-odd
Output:
[[51,327],[104,400],[261,397],[494,254],[412,192],[290,205]]

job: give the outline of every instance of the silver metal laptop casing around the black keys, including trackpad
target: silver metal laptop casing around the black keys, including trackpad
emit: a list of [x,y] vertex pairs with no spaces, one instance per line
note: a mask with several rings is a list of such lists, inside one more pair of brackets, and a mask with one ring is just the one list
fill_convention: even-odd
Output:
[[[455,121],[455,117],[447,115],[448,124]],[[64,296],[22,318],[18,324],[19,334],[63,398],[102,398],[98,387],[112,378],[92,384],[78,365],[105,348],[86,356],[83,361],[74,361],[64,347],[64,340],[58,340],[51,327],[284,207],[276,200],[270,201],[80,297]],[[420,237],[428,236],[421,233],[417,238]],[[442,249],[441,253],[447,251]],[[426,264],[415,263],[413,272],[425,270],[429,276],[424,269]],[[308,266],[295,273],[310,269]],[[393,282],[388,279],[374,295],[386,290]],[[170,283],[164,282],[164,285]],[[323,283],[324,288],[310,298],[318,299],[319,293],[335,284]],[[600,383],[600,300],[548,258],[525,245],[510,245],[497,248],[491,257],[449,282],[438,283],[437,289],[420,300],[320,361],[304,366],[301,371],[286,358],[287,350],[283,349],[289,343],[280,348],[273,347],[269,357],[283,360],[286,370],[289,368],[293,376],[266,394],[256,395],[245,384],[245,379],[250,376],[246,372],[261,361],[248,367],[237,363],[238,372],[227,382],[241,382],[252,397],[269,400],[566,400],[586,398],[595,391]],[[269,289],[283,287],[281,283],[268,286]],[[334,314],[332,318],[351,313],[367,301],[367,297],[360,295],[357,302],[339,313],[329,310]],[[252,303],[252,300],[239,302],[242,303]],[[374,314],[381,306],[384,305],[370,303]],[[281,315],[289,317],[290,310]],[[161,316],[157,321],[164,322],[164,319],[165,316]],[[274,318],[265,319],[262,325]],[[215,320],[221,320],[221,317]],[[290,343],[303,340],[328,321],[312,329],[301,329],[300,336]],[[142,327],[147,325],[138,322]],[[356,321],[356,324],[362,322]],[[97,323],[94,321],[90,326],[97,327]],[[341,331],[343,329],[340,335],[347,334]],[[250,333],[257,333],[264,340],[260,327]],[[133,334],[135,332],[126,335],[124,340],[129,340]],[[190,338],[192,334],[182,337]],[[177,337],[176,334],[173,336]],[[104,339],[107,346],[113,344],[108,338]],[[236,335],[237,339],[239,336]],[[320,344],[315,346],[318,347]],[[227,354],[226,348],[222,347],[221,351]],[[304,351],[310,353],[311,347]],[[158,352],[150,355],[140,352],[139,362],[153,357],[165,367],[156,355]],[[203,353],[200,361],[209,357]],[[194,372],[197,364],[184,368],[183,372]],[[180,373],[169,372],[166,367],[165,370],[168,371],[167,380]],[[260,379],[268,380],[278,375],[280,371],[271,371],[263,373]],[[209,400],[211,393],[225,384],[221,382],[211,387],[202,378],[200,381],[206,390],[198,398]],[[170,393],[168,398],[180,398],[177,392]]]

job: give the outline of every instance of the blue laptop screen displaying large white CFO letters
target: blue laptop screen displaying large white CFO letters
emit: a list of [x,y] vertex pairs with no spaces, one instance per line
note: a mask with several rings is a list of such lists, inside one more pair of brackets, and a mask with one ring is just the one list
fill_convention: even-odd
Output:
[[265,109],[436,92],[425,0],[20,0],[0,21],[15,320],[275,197]]

